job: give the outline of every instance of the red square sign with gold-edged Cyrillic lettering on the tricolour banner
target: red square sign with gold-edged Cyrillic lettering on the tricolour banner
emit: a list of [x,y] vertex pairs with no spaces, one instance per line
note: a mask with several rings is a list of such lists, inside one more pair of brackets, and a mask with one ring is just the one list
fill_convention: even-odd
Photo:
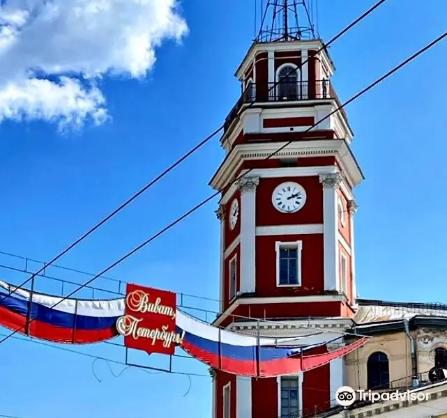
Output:
[[176,333],[176,294],[128,284],[126,311],[116,321],[128,348],[173,355],[183,335]]

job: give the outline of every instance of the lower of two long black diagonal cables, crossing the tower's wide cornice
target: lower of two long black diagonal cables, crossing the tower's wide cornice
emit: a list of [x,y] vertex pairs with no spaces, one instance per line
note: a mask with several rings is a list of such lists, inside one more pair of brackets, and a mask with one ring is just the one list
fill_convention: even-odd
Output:
[[[437,45],[437,43],[441,42],[441,40],[443,40],[444,38],[446,38],[447,36],[447,31],[444,32],[441,36],[439,36],[438,38],[436,38],[435,40],[433,40],[432,42],[430,42],[429,44],[425,45],[425,47],[421,48],[418,50],[418,52],[416,52],[415,54],[411,55],[409,58],[405,59],[404,61],[402,61],[402,63],[400,63],[399,65],[395,66],[392,70],[388,71],[385,75],[379,77],[377,80],[375,80],[374,82],[372,82],[369,86],[363,88],[363,90],[359,91],[356,95],[352,96],[349,100],[347,100],[346,102],[344,102],[343,104],[340,104],[339,107],[337,107],[335,110],[333,110],[330,114],[328,114],[327,116],[325,116],[324,118],[321,118],[321,120],[317,121],[317,123],[315,123],[313,126],[311,126],[308,130],[311,130],[313,127],[315,127],[316,125],[318,125],[319,123],[321,123],[322,121],[325,121],[328,117],[330,117],[332,114],[334,114],[337,111],[340,111],[340,109],[342,109],[343,107],[347,106],[347,104],[353,102],[354,100],[356,100],[357,98],[361,97],[362,95],[364,95],[365,93],[367,93],[368,91],[370,91],[372,88],[374,88],[374,86],[377,86],[377,84],[380,84],[381,82],[383,82],[385,79],[387,79],[388,77],[390,77],[391,75],[393,75],[395,72],[397,72],[398,70],[400,70],[402,67],[404,67],[405,65],[407,65],[408,63],[410,63],[411,61],[414,61],[414,59],[418,58],[418,56],[421,56],[421,54],[423,54],[424,52],[426,52],[428,49],[430,49],[431,47],[433,47],[434,45]],[[307,131],[308,131],[307,130]],[[287,145],[291,144],[291,142],[293,141],[289,141],[287,142],[285,145],[281,146],[280,148],[278,148],[277,150],[275,150],[275,152],[271,153],[271,155],[268,155],[268,157],[266,157],[264,160],[268,160],[269,158],[271,158],[273,155],[277,154],[280,150],[284,149]],[[249,173],[251,171],[248,170],[247,173]],[[243,176],[246,176],[247,173],[244,173]],[[241,177],[243,177],[241,176]],[[237,180],[237,178],[236,178]],[[172,228],[172,226],[178,224],[179,222],[181,222],[183,219],[185,219],[186,217],[188,217],[192,212],[195,212],[195,210],[201,208],[202,206],[204,206],[204,204],[206,204],[207,202],[209,202],[211,199],[213,199],[215,196],[217,196],[220,193],[220,191],[213,193],[211,196],[209,196],[208,198],[204,199],[204,201],[198,203],[194,208],[188,210],[188,212],[185,212],[185,214],[183,214],[181,217],[177,218],[175,221],[171,222],[169,225],[165,226],[165,228],[161,229],[158,233],[156,233],[155,235],[152,235],[151,238],[149,238],[148,240],[142,242],[142,244],[138,245],[137,247],[135,247],[135,249],[132,249],[132,251],[128,252],[126,255],[122,256],[121,258],[119,258],[119,260],[115,261],[114,263],[112,263],[111,265],[109,265],[107,268],[105,268],[104,270],[102,270],[100,273],[96,274],[96,276],[92,277],[91,279],[89,279],[88,281],[86,281],[84,284],[82,284],[81,286],[79,286],[77,289],[75,289],[73,292],[68,293],[68,295],[66,295],[65,297],[62,297],[59,302],[57,302],[56,304],[54,304],[52,306],[52,308],[58,306],[61,302],[63,302],[64,300],[68,299],[68,297],[72,296],[74,293],[76,293],[77,291],[80,291],[82,288],[88,286],[89,284],[91,284],[94,280],[96,280],[98,277],[101,277],[103,274],[109,272],[109,270],[112,270],[112,268],[114,268],[116,265],[119,265],[119,263],[121,263],[122,261],[126,260],[128,257],[132,256],[132,254],[135,254],[137,251],[139,251],[139,249],[142,249],[143,247],[145,247],[146,245],[149,244],[149,242],[152,242],[153,240],[155,240],[156,238],[158,238],[160,235],[162,235],[162,233],[165,233],[166,231],[168,231],[169,229]],[[31,318],[29,320],[29,323],[32,323],[34,320],[34,318]],[[20,328],[17,328],[16,330],[14,330],[13,332],[11,332],[10,334],[8,334],[8,336],[6,336],[5,338],[0,340],[0,343],[3,343],[4,341],[8,340],[11,336],[13,336],[14,334],[16,334],[17,332],[19,332]]]

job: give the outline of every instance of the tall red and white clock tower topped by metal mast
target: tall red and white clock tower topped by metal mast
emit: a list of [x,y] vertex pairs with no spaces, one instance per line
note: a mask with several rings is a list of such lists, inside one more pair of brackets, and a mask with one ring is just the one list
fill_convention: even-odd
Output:
[[[261,336],[309,327],[342,333],[356,308],[353,189],[363,174],[349,147],[354,134],[344,110],[335,111],[324,42],[310,20],[298,20],[308,1],[266,3],[236,70],[243,93],[225,121],[226,156],[210,183],[222,191],[215,325]],[[213,417],[321,412],[343,385],[343,369],[340,358],[280,378],[213,371]]]

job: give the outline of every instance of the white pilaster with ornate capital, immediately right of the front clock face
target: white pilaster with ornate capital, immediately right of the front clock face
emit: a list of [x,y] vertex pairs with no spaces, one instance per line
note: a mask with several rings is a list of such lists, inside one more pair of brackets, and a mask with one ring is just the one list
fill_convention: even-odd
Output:
[[323,185],[324,289],[339,291],[337,187],[342,176],[340,173],[321,174],[319,180]]

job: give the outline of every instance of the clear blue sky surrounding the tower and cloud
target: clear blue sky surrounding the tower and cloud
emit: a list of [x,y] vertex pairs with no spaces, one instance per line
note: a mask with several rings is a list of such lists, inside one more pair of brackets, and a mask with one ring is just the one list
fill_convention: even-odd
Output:
[[[328,40],[372,3],[320,1],[321,36]],[[424,3],[423,9],[388,0],[335,42],[333,83],[341,100],[439,36],[446,12],[442,0]],[[252,13],[252,1],[183,2],[189,33],[181,42],[167,40],[156,48],[156,63],[146,78],[98,78],[110,116],[103,125],[87,123],[61,134],[48,121],[3,120],[0,251],[52,258],[218,127],[238,99],[233,75],[250,46]],[[356,189],[361,297],[447,302],[442,296],[447,270],[446,48],[446,42],[434,47],[347,108],[354,153],[366,176]],[[99,272],[209,196],[207,184],[222,157],[218,139],[210,141],[59,264]],[[109,275],[218,297],[216,206],[214,201],[197,210]],[[20,265],[0,258],[5,263]],[[70,277],[56,269],[50,273]],[[26,277],[4,269],[1,274],[15,282]],[[74,281],[84,279],[73,275]],[[194,303],[215,308],[211,302]],[[208,378],[192,378],[183,397],[189,385],[184,376],[129,370],[114,378],[106,364],[97,362],[98,382],[92,360],[79,355],[15,340],[3,343],[0,351],[0,414],[211,415]],[[103,345],[86,352],[118,355]],[[206,374],[200,364],[188,369]]]

